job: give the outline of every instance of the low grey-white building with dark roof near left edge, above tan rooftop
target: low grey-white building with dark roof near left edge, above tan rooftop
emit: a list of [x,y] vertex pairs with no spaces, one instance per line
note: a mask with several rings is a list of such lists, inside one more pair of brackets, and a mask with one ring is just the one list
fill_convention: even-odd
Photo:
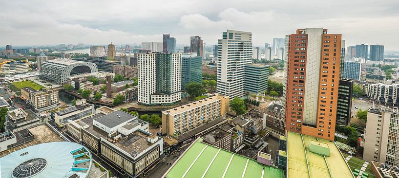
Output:
[[5,130],[17,132],[40,124],[40,118],[30,109],[13,109],[5,116]]

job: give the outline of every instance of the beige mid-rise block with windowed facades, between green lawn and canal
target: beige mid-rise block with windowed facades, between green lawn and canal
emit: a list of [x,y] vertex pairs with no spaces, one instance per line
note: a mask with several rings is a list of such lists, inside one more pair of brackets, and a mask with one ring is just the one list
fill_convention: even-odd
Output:
[[37,91],[30,87],[24,87],[21,88],[21,96],[28,100],[30,105],[39,112],[57,107],[60,104],[58,91],[53,89]]

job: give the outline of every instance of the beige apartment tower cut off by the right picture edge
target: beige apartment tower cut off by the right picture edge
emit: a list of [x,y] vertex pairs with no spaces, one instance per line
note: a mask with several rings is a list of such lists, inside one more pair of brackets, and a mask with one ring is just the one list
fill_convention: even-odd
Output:
[[363,160],[377,161],[390,166],[399,164],[398,108],[370,108],[364,135]]

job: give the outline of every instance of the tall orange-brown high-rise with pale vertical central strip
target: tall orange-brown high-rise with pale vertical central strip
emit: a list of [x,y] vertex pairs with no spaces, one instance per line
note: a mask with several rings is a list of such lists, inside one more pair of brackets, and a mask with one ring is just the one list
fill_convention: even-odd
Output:
[[286,36],[283,112],[286,129],[334,140],[341,35],[298,29]]

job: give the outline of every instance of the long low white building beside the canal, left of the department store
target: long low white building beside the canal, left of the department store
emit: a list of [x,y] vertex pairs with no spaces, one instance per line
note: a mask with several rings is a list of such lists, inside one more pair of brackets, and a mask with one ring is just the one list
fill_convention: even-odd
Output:
[[54,120],[57,125],[64,126],[68,121],[75,121],[86,116],[95,114],[94,105],[86,102],[85,99],[77,100],[74,106],[67,107],[65,109],[59,108],[58,111],[54,112]]

